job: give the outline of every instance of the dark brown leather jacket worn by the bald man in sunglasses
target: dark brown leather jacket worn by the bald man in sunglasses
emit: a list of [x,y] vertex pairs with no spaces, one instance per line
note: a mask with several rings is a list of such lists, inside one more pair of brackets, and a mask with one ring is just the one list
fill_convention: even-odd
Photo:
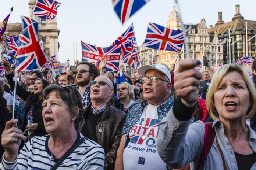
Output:
[[[83,112],[82,120],[79,124],[78,131],[81,132],[83,126],[86,126],[86,114],[92,108],[92,103]],[[105,151],[104,170],[113,170],[117,149],[122,136],[122,127],[126,121],[127,115],[114,108],[109,103],[103,112],[102,117],[97,122],[96,141]],[[83,132],[81,132],[83,134]]]

